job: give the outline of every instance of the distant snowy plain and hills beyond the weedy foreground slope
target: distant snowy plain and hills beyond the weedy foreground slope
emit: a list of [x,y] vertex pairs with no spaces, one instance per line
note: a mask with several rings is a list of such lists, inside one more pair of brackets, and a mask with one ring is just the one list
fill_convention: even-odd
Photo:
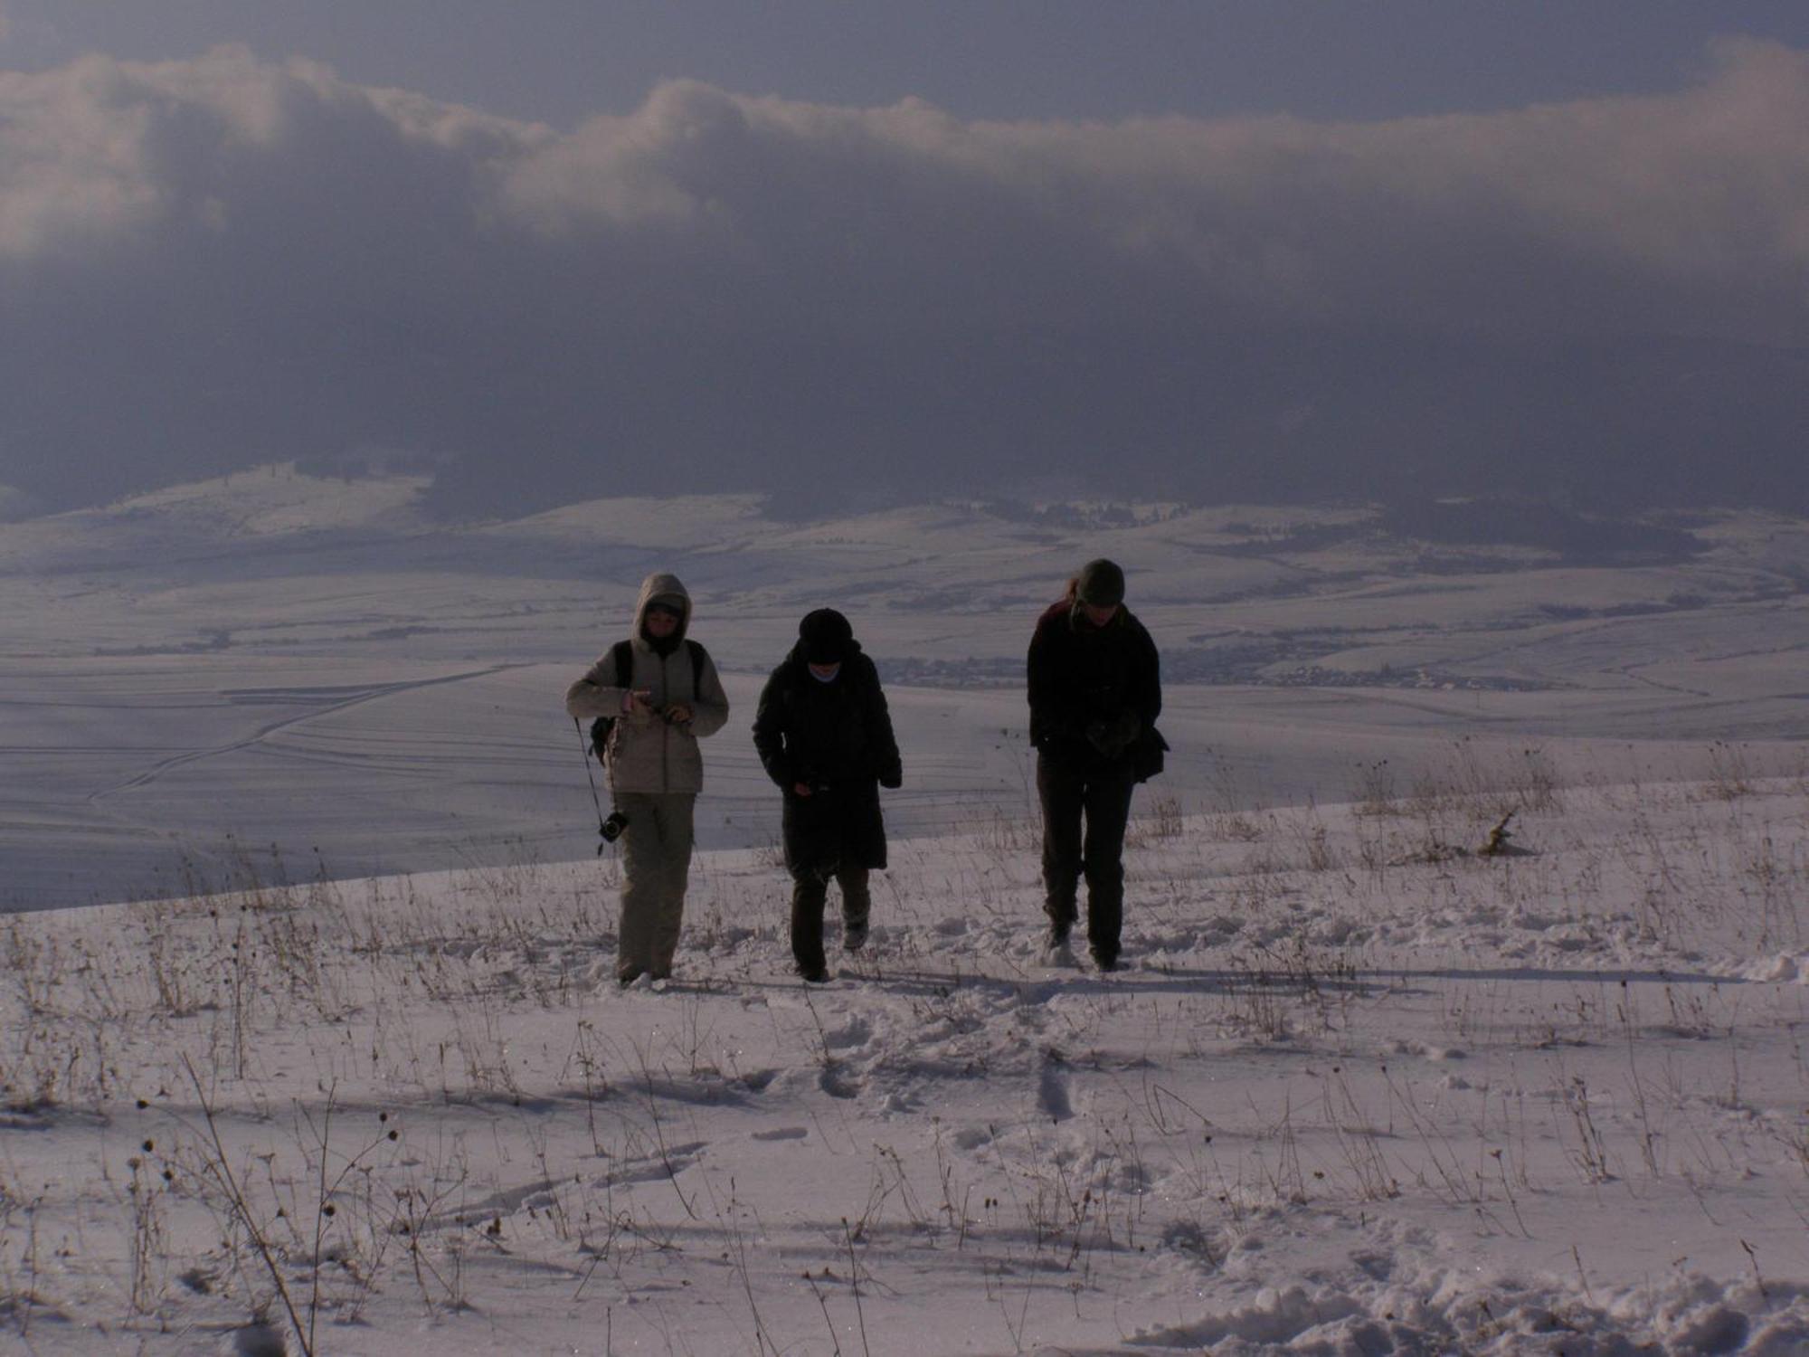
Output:
[[[246,845],[297,876],[584,858],[564,684],[677,570],[736,716],[706,843],[765,845],[747,722],[814,606],[899,718],[901,832],[1029,800],[1022,655],[1091,555],[1131,572],[1176,745],[1149,798],[1346,800],[1453,762],[1693,776],[1809,736],[1809,525],[1527,507],[924,503],[791,521],[751,496],[599,499],[449,525],[427,479],[291,465],[0,525],[0,901],[181,894]],[[1500,525],[1491,541],[1487,525]],[[232,834],[232,845],[226,836]]]

